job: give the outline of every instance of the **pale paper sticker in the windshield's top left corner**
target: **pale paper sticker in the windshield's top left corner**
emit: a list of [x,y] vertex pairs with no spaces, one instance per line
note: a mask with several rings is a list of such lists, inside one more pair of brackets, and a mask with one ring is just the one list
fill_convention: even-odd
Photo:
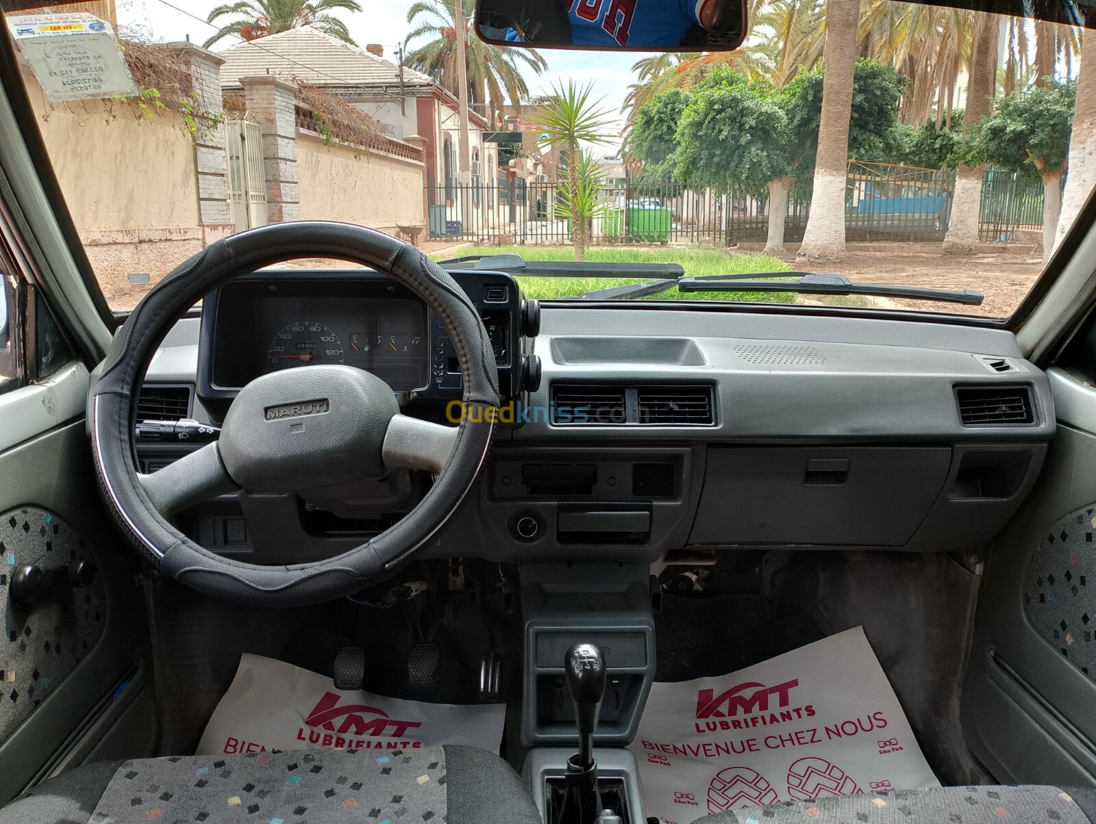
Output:
[[14,14],[8,28],[50,100],[137,94],[111,24],[94,14]]

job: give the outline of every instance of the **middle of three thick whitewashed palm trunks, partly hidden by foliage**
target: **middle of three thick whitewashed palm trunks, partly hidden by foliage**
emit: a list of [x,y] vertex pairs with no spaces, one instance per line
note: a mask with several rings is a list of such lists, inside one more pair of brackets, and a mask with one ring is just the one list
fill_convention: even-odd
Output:
[[[991,60],[997,45],[996,18],[980,16],[974,24],[971,45],[970,72],[967,82],[967,112],[963,131],[973,128],[990,114],[993,107],[994,76]],[[982,176],[985,167],[959,164],[956,172],[956,191],[951,198],[951,219],[944,236],[943,251],[948,254],[973,254],[978,251],[978,219],[982,205]]]

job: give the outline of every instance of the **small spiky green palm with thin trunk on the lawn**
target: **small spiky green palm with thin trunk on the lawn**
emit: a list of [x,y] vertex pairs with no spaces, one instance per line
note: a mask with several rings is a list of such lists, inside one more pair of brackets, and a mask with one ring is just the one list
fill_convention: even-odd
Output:
[[[856,2],[856,0],[853,0]],[[567,88],[556,88],[552,84],[552,95],[538,114],[540,128],[547,134],[541,144],[548,147],[560,146],[567,151],[568,191],[564,201],[571,208],[571,240],[574,243],[574,260],[583,260],[586,245],[586,224],[576,206],[582,203],[580,174],[582,171],[582,144],[607,144],[605,129],[613,119],[608,112],[601,107],[601,100],[591,101],[590,93],[593,82],[579,88],[573,80],[567,81]]]

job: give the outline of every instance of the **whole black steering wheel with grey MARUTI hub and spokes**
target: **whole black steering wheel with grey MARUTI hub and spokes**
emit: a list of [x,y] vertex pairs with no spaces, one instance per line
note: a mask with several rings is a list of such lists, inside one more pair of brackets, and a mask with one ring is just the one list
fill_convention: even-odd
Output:
[[[400,414],[380,378],[350,366],[302,366],[255,378],[225,417],[218,442],[153,474],[134,451],[135,405],[160,341],[212,289],[295,258],[335,258],[381,272],[445,324],[470,414],[457,427]],[[92,450],[103,500],[125,537],[165,575],[215,597],[292,606],[330,600],[393,574],[468,492],[491,446],[498,371],[483,322],[464,290],[414,247],[349,224],[277,224],[216,241],[157,284],[118,331],[92,391]],[[221,558],[175,529],[172,514],[239,489],[292,493],[385,477],[437,473],[402,519],[335,558],[264,566]]]

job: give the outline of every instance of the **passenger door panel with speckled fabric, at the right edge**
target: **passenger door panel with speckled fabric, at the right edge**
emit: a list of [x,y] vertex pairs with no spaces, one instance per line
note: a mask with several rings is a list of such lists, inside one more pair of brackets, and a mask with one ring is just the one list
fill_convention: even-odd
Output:
[[998,780],[1093,785],[1096,389],[1048,375],[1058,432],[1031,495],[989,548],[963,724]]

